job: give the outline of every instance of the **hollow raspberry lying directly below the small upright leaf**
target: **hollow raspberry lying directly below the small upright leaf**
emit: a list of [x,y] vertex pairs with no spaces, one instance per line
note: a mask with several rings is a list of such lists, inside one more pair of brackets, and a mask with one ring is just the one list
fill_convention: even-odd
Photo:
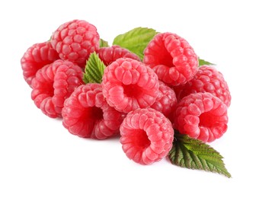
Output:
[[106,139],[119,132],[124,114],[104,100],[101,84],[89,83],[75,89],[65,101],[63,126],[83,138]]

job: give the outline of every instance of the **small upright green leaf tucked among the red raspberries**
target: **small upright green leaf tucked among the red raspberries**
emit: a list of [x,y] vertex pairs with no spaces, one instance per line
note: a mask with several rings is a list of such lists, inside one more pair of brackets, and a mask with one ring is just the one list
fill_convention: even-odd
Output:
[[98,57],[97,53],[91,53],[85,65],[83,81],[85,83],[101,83],[106,66]]

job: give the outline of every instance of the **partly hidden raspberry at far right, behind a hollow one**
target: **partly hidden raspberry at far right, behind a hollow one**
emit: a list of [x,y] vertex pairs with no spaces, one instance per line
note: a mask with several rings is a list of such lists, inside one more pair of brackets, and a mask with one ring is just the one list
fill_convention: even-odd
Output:
[[227,107],[230,106],[231,102],[229,86],[222,73],[207,65],[201,66],[194,78],[187,81],[185,85],[174,87],[174,91],[177,94],[178,100],[181,100],[181,98],[188,94],[209,92],[219,97]]

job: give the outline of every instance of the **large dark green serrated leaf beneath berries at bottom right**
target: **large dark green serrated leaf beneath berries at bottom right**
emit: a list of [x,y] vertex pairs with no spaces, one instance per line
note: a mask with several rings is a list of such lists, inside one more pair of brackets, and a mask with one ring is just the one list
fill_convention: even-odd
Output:
[[173,146],[168,158],[172,164],[183,168],[216,172],[231,177],[219,152],[210,145],[198,139],[191,139],[178,131],[175,131]]

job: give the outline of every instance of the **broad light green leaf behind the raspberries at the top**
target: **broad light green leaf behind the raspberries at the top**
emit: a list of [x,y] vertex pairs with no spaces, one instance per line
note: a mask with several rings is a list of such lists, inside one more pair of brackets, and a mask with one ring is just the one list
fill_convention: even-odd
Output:
[[148,45],[149,41],[155,37],[157,32],[147,27],[136,27],[133,30],[120,34],[114,38],[113,45],[121,46],[129,49],[132,53],[143,59],[144,49]]

